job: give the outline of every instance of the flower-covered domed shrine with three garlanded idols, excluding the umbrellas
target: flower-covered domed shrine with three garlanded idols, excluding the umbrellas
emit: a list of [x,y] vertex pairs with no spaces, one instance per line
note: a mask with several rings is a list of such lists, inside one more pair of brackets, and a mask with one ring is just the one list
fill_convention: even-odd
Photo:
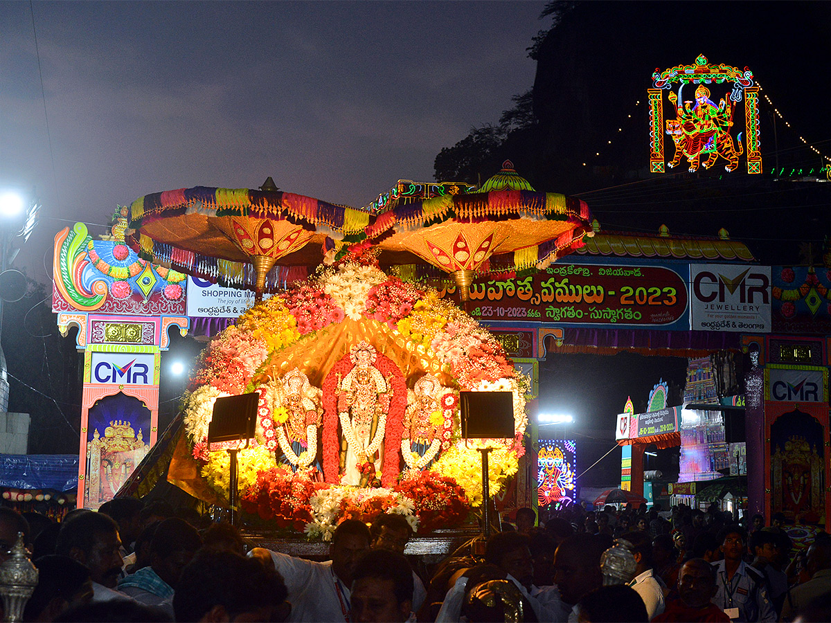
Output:
[[343,518],[379,513],[425,532],[482,503],[459,391],[514,395],[514,438],[487,442],[499,491],[524,453],[527,383],[440,292],[350,261],[258,303],[211,341],[184,399],[184,429],[201,477],[224,496],[228,454],[207,447],[214,400],[256,391],[256,441],[239,452],[244,512],[323,539]]

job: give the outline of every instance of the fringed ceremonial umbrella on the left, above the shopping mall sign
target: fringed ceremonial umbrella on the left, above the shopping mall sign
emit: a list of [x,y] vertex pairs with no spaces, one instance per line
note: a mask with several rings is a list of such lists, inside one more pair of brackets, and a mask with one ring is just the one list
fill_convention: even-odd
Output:
[[130,206],[125,241],[142,258],[229,287],[254,287],[258,298],[275,265],[322,261],[332,238],[362,233],[361,210],[277,189],[197,186],[147,194]]

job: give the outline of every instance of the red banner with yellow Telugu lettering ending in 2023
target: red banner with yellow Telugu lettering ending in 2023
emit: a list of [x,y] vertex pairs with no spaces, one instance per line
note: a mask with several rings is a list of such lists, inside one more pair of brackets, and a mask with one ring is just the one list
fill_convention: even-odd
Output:
[[471,316],[485,322],[689,328],[687,283],[659,266],[568,264],[529,277],[474,283]]

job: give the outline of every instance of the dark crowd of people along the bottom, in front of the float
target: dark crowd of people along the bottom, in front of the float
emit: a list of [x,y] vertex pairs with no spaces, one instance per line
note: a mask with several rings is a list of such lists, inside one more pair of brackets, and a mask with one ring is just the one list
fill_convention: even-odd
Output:
[[[427,567],[405,556],[400,515],[341,522],[329,560],[312,561],[116,498],[61,523],[0,508],[0,560],[22,532],[40,574],[24,621],[831,621],[831,536],[794,547],[784,517],[572,505],[546,519],[519,509]],[[620,547],[622,583],[606,567]]]

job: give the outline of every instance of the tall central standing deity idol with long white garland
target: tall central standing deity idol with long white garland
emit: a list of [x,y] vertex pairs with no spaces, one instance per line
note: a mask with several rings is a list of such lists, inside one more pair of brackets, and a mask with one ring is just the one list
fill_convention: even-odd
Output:
[[349,356],[354,367],[337,383],[337,415],[343,431],[341,482],[366,485],[371,473],[381,469],[392,387],[376,367],[378,353],[369,342],[353,346]]

